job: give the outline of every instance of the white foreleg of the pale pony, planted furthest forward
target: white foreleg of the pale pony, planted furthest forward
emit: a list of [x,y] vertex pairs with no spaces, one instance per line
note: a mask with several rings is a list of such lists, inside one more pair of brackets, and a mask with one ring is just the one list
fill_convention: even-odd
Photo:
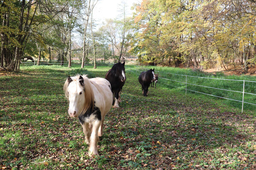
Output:
[[90,147],[88,154],[89,156],[91,155],[97,155],[98,154],[98,148],[97,148],[97,143],[99,141],[99,136],[98,136],[98,130],[100,127],[101,121],[96,119],[91,123],[91,137],[90,137]]

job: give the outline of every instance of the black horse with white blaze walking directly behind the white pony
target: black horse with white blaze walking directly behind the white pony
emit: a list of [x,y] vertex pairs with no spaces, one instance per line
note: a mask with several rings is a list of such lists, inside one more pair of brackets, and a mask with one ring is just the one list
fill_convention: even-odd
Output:
[[119,108],[118,102],[121,102],[120,94],[126,80],[124,65],[125,62],[123,64],[121,62],[114,64],[105,76],[105,79],[110,82],[111,90],[115,97],[113,108]]

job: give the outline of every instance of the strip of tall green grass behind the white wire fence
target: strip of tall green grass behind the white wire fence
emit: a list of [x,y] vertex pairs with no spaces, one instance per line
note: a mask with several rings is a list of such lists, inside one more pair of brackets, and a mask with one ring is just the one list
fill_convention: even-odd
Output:
[[[223,73],[207,74],[200,71],[193,71],[189,68],[184,69],[184,68],[154,67],[154,66],[141,67],[141,66],[131,66],[131,65],[129,65],[128,67],[131,67],[131,68],[127,68],[127,71],[129,70],[145,71],[149,68],[155,68],[156,73],[159,73],[159,77],[174,80],[174,81],[170,81],[170,80],[159,78],[159,84],[168,88],[177,89],[180,92],[185,91],[185,83],[181,83],[181,82],[186,82],[186,77],[179,76],[179,75],[195,76],[195,77],[187,77],[187,83],[189,83],[187,84],[187,89],[192,90],[192,91],[187,90],[187,93],[196,93],[193,91],[198,91],[205,94],[211,94],[214,96],[220,96],[220,97],[235,99],[239,101],[242,101],[242,93],[239,93],[239,92],[243,91],[243,81],[230,81],[230,80],[219,80],[219,79],[256,81],[256,78],[254,76],[235,76],[235,75],[225,76]],[[139,71],[137,71],[137,74],[140,73]],[[129,72],[132,73],[131,71]],[[179,75],[174,75],[174,74],[179,74]],[[197,77],[209,77],[209,78],[218,78],[218,79],[203,79],[203,78],[197,78]],[[175,81],[179,81],[179,82],[175,82]],[[166,84],[169,84],[169,85],[166,85]],[[194,84],[194,85],[191,85],[191,84]],[[201,87],[196,85],[207,86],[212,88],[206,88],[206,87]],[[221,89],[227,89],[232,91],[218,90],[214,88],[221,88]],[[233,92],[233,91],[239,91],[239,92]],[[244,102],[256,104],[256,95],[252,95],[252,94],[256,94],[255,93],[256,82],[245,82],[244,92],[251,93],[251,94],[244,94]],[[207,96],[207,98],[213,99],[216,97]],[[242,105],[241,102],[236,102],[236,101],[227,100],[227,99],[222,99],[222,102],[229,106],[241,109],[241,105]],[[255,110],[256,106],[245,103],[244,109]]]

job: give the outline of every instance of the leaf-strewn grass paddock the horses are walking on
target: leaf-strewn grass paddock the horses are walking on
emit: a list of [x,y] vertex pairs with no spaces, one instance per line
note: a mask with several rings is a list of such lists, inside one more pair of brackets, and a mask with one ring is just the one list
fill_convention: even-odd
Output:
[[[104,77],[110,67],[88,67]],[[127,71],[121,108],[106,115],[99,156],[90,159],[62,90],[71,69],[0,73],[0,169],[256,169],[255,110],[159,84],[142,95]]]

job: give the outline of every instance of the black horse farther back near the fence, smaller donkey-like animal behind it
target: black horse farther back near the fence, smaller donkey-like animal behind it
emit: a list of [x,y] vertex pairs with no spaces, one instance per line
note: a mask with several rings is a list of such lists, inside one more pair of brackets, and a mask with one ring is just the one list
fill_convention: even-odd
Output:
[[148,87],[152,81],[156,80],[155,68],[148,71],[143,71],[138,77],[138,82],[141,83],[141,88],[144,96],[147,96]]

